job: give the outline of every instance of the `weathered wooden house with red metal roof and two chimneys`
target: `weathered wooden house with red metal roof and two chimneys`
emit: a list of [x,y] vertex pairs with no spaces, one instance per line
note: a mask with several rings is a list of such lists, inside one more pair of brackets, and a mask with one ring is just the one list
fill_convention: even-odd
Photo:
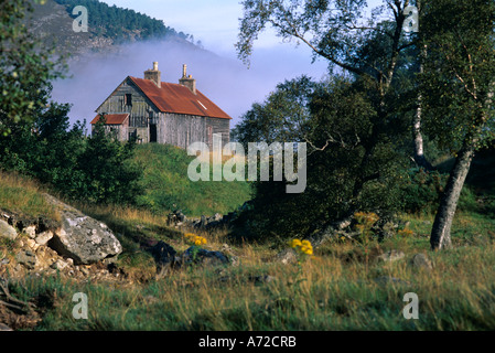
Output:
[[201,141],[212,149],[214,133],[222,133],[222,145],[230,139],[232,118],[196,89],[186,65],[179,84],[161,82],[157,62],[144,78],[127,76],[96,113],[93,129],[105,114],[105,129],[121,141],[137,138],[138,143],[181,148]]

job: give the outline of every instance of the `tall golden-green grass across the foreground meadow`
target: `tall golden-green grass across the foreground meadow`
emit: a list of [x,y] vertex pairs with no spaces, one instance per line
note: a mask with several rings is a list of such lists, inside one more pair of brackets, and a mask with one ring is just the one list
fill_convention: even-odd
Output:
[[[466,224],[473,220],[464,217]],[[412,220],[411,227],[424,221]],[[204,236],[209,249],[226,240],[222,234]],[[185,248],[180,236],[172,240]],[[60,278],[45,285],[25,279],[15,288],[23,299],[56,291],[40,330],[493,330],[495,243],[463,243],[441,253],[430,253],[428,245],[415,231],[370,242],[369,257],[363,247],[335,242],[318,248],[314,258],[282,265],[275,258],[283,247],[240,244],[232,245],[237,267],[183,268],[132,286]],[[388,249],[402,249],[406,258],[378,260]],[[431,271],[409,264],[417,253],[431,258]],[[88,295],[88,320],[72,318],[76,291]],[[418,295],[418,320],[403,318],[408,292]]]

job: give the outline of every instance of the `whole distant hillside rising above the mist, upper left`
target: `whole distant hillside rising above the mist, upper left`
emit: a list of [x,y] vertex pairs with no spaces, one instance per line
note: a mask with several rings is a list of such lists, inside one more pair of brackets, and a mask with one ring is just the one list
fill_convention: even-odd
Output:
[[[77,56],[88,52],[111,52],[127,42],[168,39],[194,46],[190,35],[177,32],[163,21],[129,9],[109,7],[97,0],[46,0],[33,4],[28,28],[45,43],[56,43],[56,54]],[[74,7],[84,6],[88,13],[88,32],[74,32]]]

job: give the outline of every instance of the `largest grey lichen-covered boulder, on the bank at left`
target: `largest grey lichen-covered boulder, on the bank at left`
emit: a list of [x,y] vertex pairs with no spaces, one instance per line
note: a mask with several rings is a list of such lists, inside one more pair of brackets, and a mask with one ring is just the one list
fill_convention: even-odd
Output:
[[62,226],[49,242],[58,254],[74,259],[76,264],[87,265],[122,252],[120,242],[104,223],[50,195],[46,197],[56,204],[62,218]]

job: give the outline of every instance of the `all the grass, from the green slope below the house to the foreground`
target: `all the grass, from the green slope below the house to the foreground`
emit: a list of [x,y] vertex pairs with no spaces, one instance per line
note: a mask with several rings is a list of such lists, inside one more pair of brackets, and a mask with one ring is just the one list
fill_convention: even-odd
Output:
[[[150,240],[165,240],[179,254],[189,247],[182,232],[165,226],[169,203],[176,202],[174,207],[190,214],[211,214],[218,212],[219,203],[225,210],[240,203],[248,185],[194,184],[183,175],[190,158],[171,147],[138,147],[137,159],[146,168],[148,193],[142,203],[151,210],[76,205],[117,234],[125,248],[117,266],[129,275],[128,280],[76,282],[32,276],[11,281],[17,298],[32,300],[41,310],[36,330],[495,329],[495,220],[475,212],[472,193],[464,195],[470,207],[462,207],[454,220],[450,250],[430,252],[432,215],[402,215],[412,234],[381,243],[335,240],[316,248],[314,258],[291,265],[277,260],[277,253],[287,247],[281,239],[235,243],[229,246],[239,259],[237,267],[192,266],[155,278],[155,264],[147,249]],[[31,215],[46,212],[37,184],[14,174],[0,176],[2,207]],[[223,193],[224,201],[208,204],[208,197],[222,200]],[[200,235],[211,250],[222,250],[229,243],[226,231]],[[406,257],[378,260],[379,254],[390,249],[402,250]],[[409,264],[418,253],[430,257],[432,270]],[[88,296],[88,320],[72,315],[76,292]],[[418,295],[418,320],[403,318],[408,292]]]

